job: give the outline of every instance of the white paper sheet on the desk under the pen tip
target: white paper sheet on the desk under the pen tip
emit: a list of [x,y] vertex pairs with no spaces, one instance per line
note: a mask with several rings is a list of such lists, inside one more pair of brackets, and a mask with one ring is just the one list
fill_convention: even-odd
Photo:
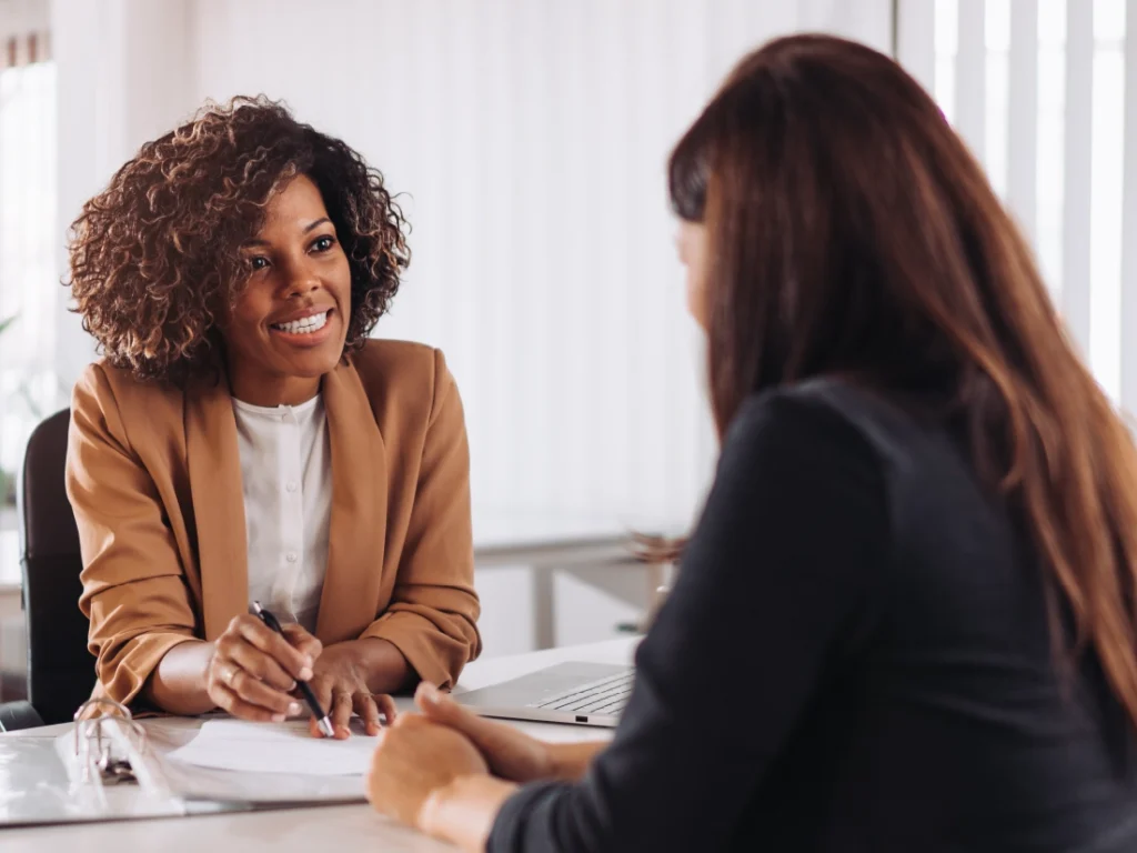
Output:
[[371,767],[375,742],[354,726],[347,740],[333,740],[313,737],[307,720],[206,720],[197,736],[168,757],[218,770],[363,776]]

